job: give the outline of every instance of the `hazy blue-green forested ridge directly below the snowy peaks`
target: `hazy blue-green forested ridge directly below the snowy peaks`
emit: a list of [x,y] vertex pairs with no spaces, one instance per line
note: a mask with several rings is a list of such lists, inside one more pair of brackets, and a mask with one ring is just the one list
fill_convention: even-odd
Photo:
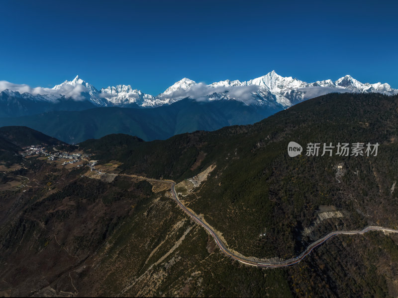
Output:
[[224,126],[252,124],[282,109],[279,105],[255,107],[235,100],[198,102],[186,98],[149,109],[107,107],[0,118],[0,126],[28,126],[68,144],[115,133],[151,141],[196,130],[214,131]]

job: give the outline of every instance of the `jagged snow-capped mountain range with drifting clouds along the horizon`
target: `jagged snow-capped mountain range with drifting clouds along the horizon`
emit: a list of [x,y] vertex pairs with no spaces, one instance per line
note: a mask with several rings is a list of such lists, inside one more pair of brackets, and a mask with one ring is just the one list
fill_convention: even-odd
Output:
[[139,107],[157,107],[191,97],[208,101],[238,100],[247,105],[288,108],[302,100],[331,92],[398,94],[398,89],[391,88],[387,83],[361,83],[350,75],[343,76],[336,81],[327,79],[307,83],[291,76],[283,77],[275,71],[248,81],[227,79],[208,85],[183,78],[157,96],[145,94],[138,89],[133,89],[130,85],[108,86],[98,90],[79,76],[71,81],[66,80],[53,88],[31,88],[28,85],[0,81],[0,91],[5,91],[8,95],[19,92],[19,96],[24,99],[38,101],[54,102],[60,101],[62,98],[72,98],[76,101],[88,100],[100,107],[137,105]]

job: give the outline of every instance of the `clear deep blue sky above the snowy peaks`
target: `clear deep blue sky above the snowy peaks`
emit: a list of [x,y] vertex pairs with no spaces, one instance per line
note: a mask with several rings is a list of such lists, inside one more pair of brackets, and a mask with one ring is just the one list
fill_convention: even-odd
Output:
[[[324,2],[324,3],[323,3]],[[350,74],[398,88],[396,1],[1,0],[0,80],[156,95],[189,77],[304,81]]]

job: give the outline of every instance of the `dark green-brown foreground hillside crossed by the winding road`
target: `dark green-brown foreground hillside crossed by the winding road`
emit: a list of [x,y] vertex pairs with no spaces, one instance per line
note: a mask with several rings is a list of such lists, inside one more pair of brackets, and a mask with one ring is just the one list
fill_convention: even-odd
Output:
[[[286,259],[330,231],[398,227],[397,138],[398,96],[329,94],[248,126],[165,141],[118,134],[81,143],[102,174],[23,160],[24,168],[1,178],[0,290],[396,297],[397,234],[339,235],[296,265],[246,266],[182,212],[167,182],[145,177],[174,180],[184,204],[231,250]],[[291,141],[301,155],[289,157]],[[305,154],[308,143],[357,142],[378,143],[377,156]],[[28,180],[17,188],[20,176]]]

